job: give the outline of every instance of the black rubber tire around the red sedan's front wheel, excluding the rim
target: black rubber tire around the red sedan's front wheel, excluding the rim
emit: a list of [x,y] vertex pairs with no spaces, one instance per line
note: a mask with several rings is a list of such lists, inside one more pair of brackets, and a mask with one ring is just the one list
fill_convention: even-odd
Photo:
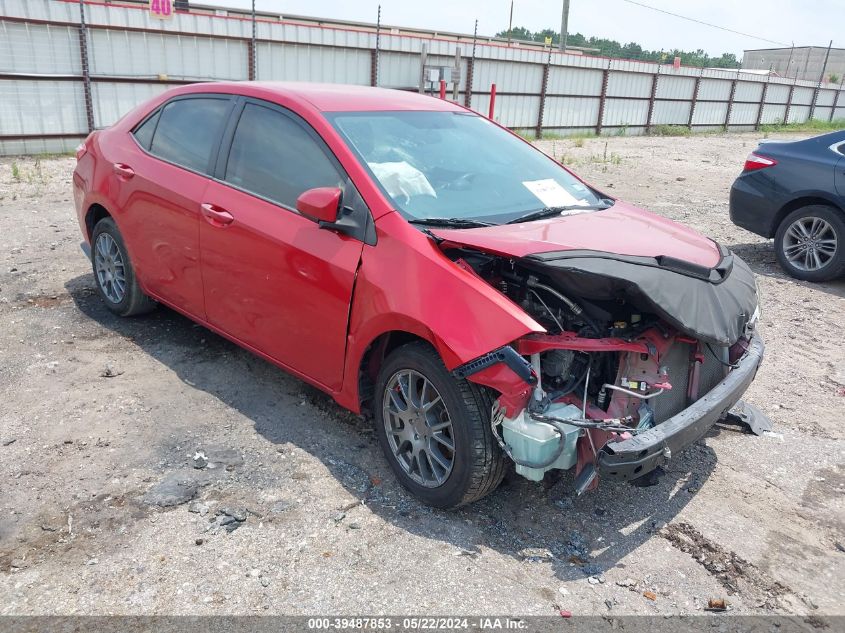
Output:
[[[439,392],[452,422],[453,465],[445,481],[426,487],[414,481],[391,450],[383,403],[391,378],[400,371],[422,374]],[[374,425],[379,443],[399,482],[415,497],[436,508],[457,508],[477,501],[501,483],[507,461],[490,429],[490,391],[452,376],[429,345],[409,343],[394,350],[379,370],[375,385]]]

